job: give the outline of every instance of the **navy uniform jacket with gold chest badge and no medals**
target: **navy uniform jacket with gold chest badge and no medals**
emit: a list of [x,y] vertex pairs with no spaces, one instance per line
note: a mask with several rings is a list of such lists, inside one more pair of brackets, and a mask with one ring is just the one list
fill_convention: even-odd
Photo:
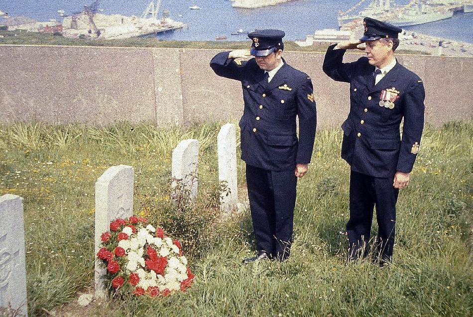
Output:
[[309,163],[316,129],[310,77],[283,60],[284,66],[267,83],[254,58],[240,62],[228,56],[229,52],[217,54],[210,66],[217,75],[241,82],[244,101],[239,122],[241,159],[270,171],[293,170],[296,163]]

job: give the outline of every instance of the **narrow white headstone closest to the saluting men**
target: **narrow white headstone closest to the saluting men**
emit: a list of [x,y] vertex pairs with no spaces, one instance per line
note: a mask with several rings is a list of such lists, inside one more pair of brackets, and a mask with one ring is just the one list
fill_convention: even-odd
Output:
[[219,156],[219,181],[225,182],[228,192],[222,193],[220,210],[231,212],[238,203],[238,185],[236,183],[236,130],[235,124],[222,126],[217,136]]

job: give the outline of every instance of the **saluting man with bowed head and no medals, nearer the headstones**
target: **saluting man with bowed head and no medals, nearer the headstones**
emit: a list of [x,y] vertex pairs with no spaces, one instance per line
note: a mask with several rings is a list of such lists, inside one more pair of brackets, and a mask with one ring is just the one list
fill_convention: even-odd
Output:
[[258,251],[243,263],[289,256],[297,178],[307,172],[314,146],[312,82],[282,58],[284,35],[251,32],[251,50],[221,52],[210,62],[217,75],[240,81],[243,89],[241,158]]

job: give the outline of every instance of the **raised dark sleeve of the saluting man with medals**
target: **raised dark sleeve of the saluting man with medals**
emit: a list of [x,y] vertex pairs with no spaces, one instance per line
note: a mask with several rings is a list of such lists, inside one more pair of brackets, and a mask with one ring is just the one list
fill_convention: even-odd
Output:
[[350,83],[354,63],[343,63],[343,56],[347,50],[334,50],[335,46],[336,44],[333,44],[327,49],[322,69],[333,80]]

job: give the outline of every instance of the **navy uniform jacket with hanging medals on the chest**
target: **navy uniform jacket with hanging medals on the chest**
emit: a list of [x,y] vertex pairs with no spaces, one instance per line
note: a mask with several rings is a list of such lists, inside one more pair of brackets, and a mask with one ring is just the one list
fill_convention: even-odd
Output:
[[[374,177],[393,177],[396,171],[410,173],[424,127],[422,81],[396,63],[374,86],[375,67],[368,64],[367,57],[342,63],[346,50],[334,47],[327,50],[323,70],[336,81],[350,83],[350,113],[342,124],[342,158],[353,171]],[[389,97],[394,99],[394,107],[380,106]]]

